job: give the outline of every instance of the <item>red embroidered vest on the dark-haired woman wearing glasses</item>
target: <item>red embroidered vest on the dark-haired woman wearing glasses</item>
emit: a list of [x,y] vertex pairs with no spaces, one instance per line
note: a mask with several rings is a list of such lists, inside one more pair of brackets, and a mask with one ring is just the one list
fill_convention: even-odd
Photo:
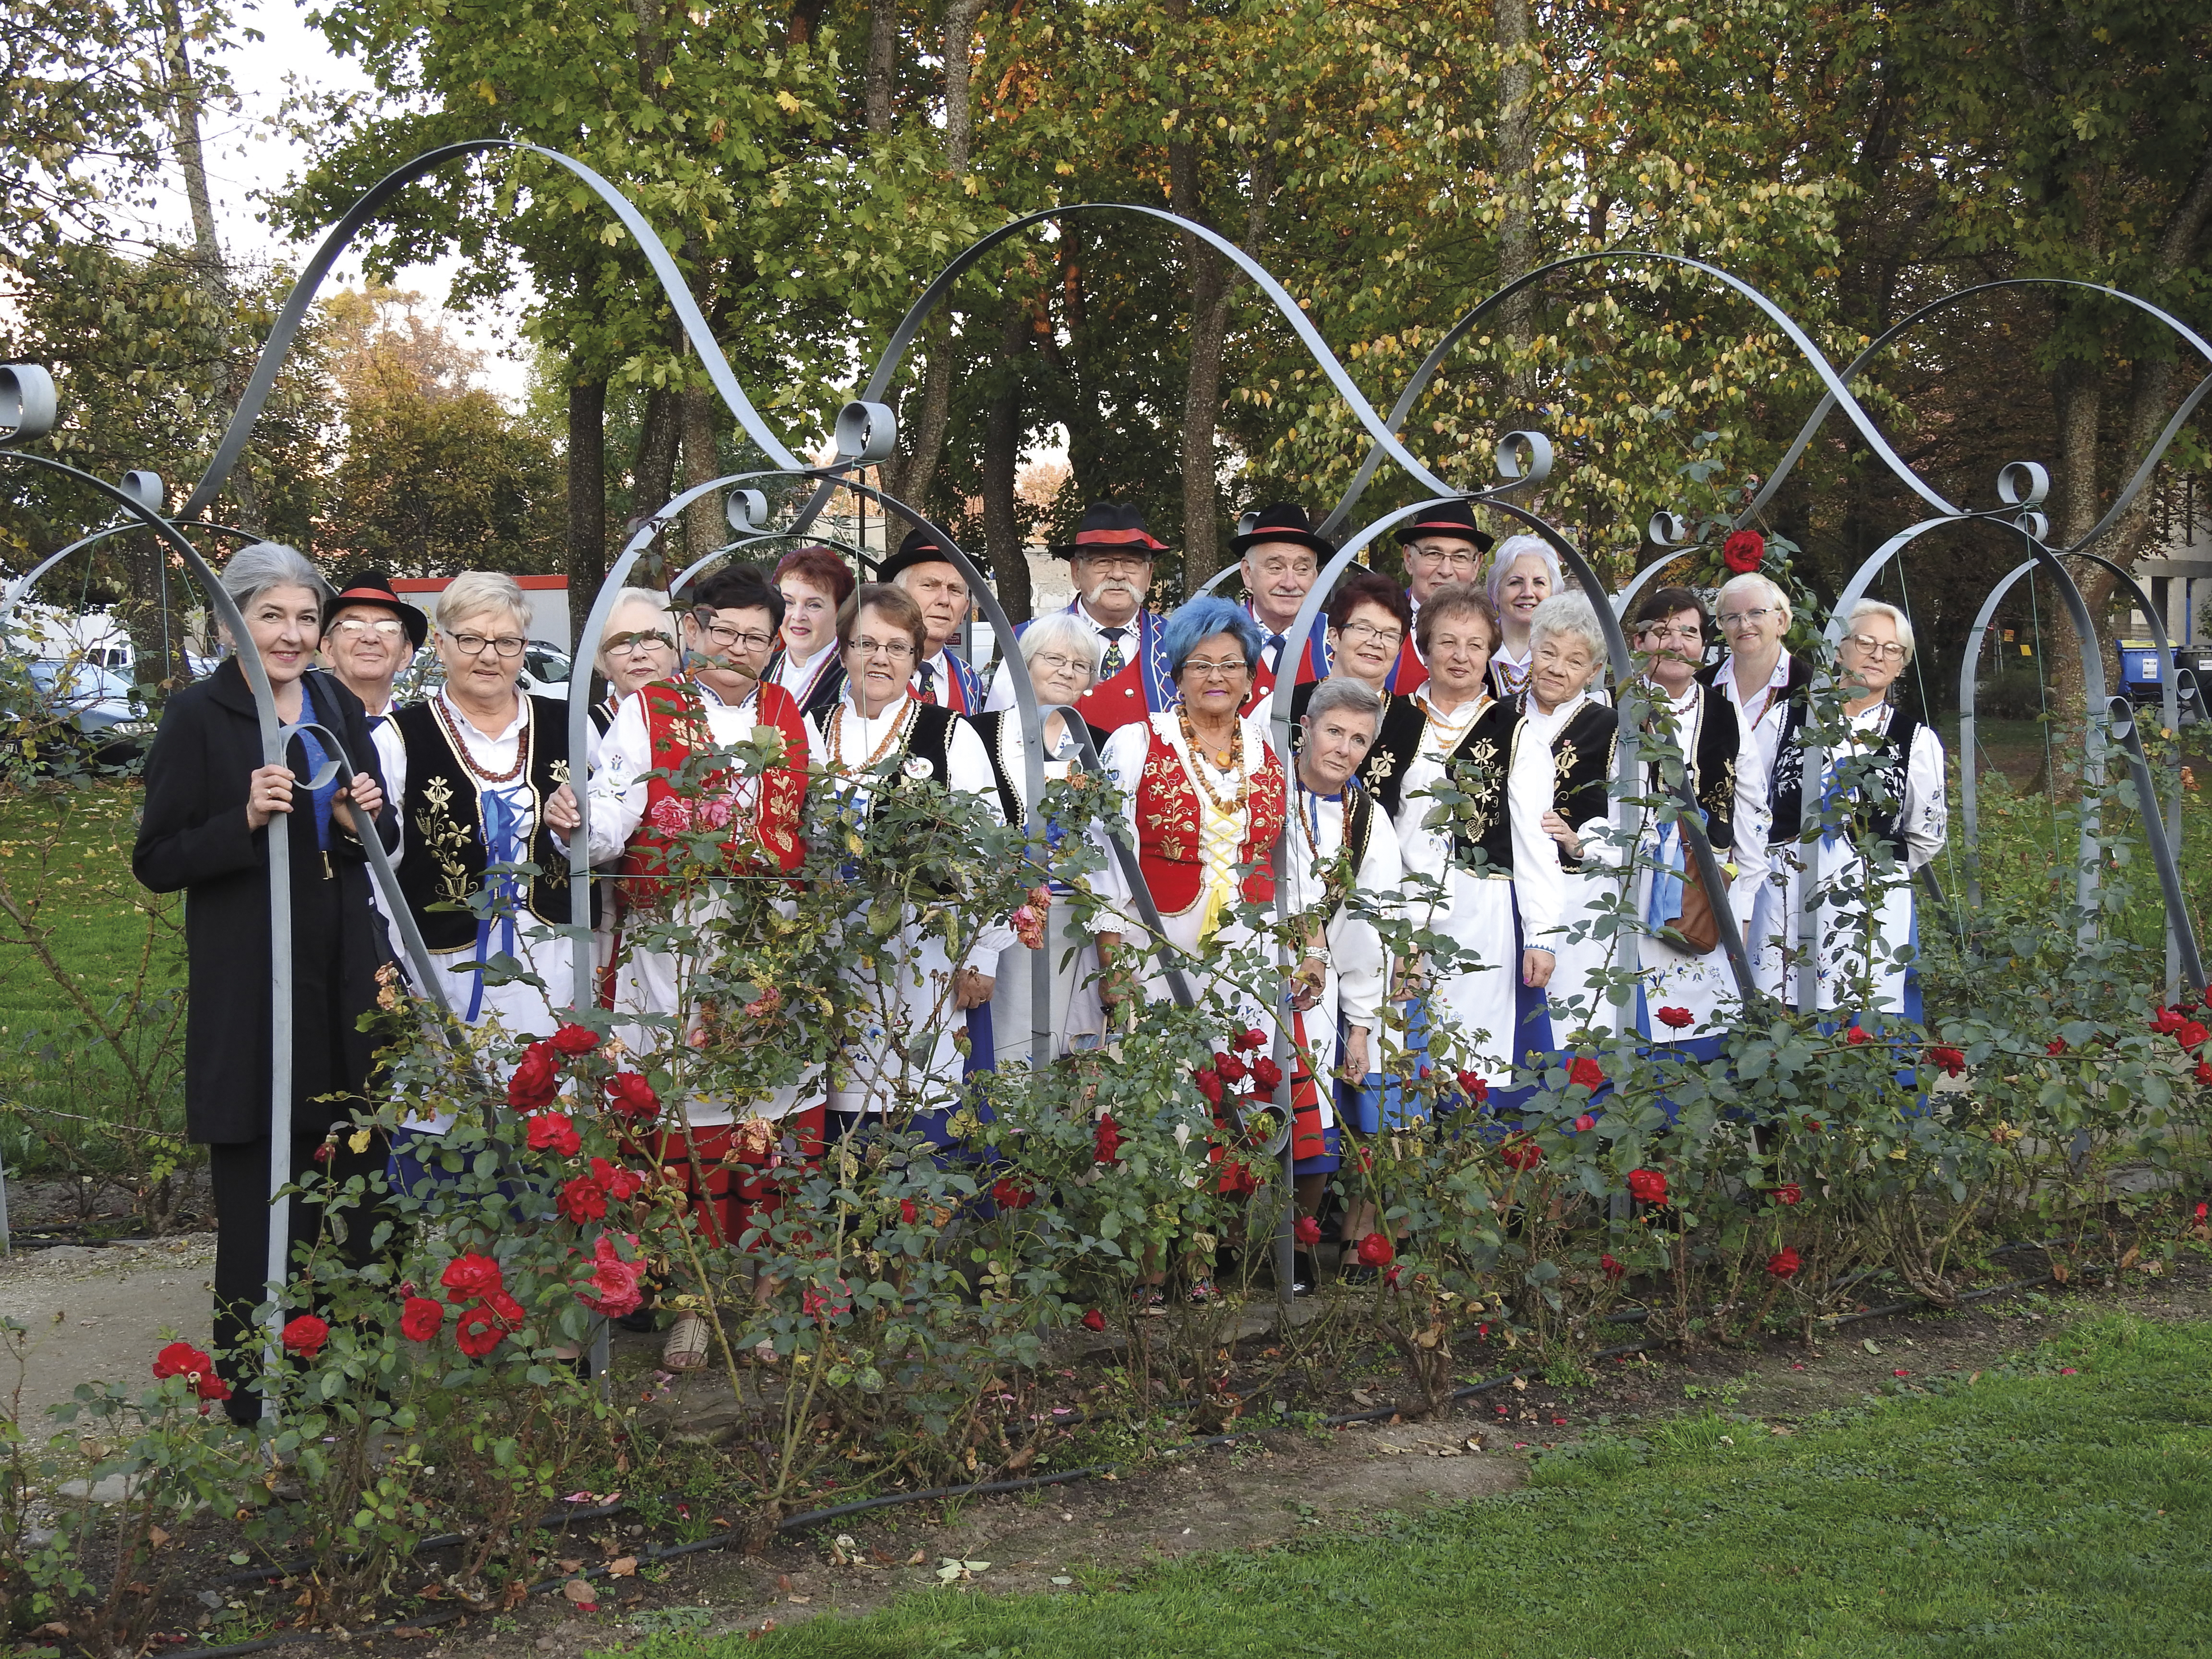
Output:
[[[646,706],[646,741],[655,772],[681,772],[692,745],[706,741],[706,706],[699,692],[684,684],[655,684],[637,692]],[[752,834],[732,834],[721,843],[730,872],[765,858],[776,869],[796,869],[805,858],[799,841],[799,810],[807,796],[807,726],[799,703],[781,686],[761,684],[754,701],[757,726],[783,732],[783,763],[759,779],[759,810]],[[675,779],[646,779],[646,814],[637,821],[630,845],[622,849],[622,891],[633,905],[653,905],[668,896],[668,849],[692,830],[719,830],[730,823],[737,779],[714,772],[697,787],[677,787]]]

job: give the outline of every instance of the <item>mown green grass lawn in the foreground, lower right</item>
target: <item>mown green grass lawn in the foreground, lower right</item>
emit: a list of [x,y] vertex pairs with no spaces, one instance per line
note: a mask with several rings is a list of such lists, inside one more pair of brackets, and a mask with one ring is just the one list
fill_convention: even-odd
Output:
[[1776,1436],[1705,1416],[1358,1535],[1126,1588],[938,1590],[661,1659],[1723,1659],[2212,1652],[2212,1325],[2112,1314]]

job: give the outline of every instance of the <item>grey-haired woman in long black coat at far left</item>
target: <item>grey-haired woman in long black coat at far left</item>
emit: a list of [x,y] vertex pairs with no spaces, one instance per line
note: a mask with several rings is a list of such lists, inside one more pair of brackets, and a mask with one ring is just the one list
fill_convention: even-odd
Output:
[[[290,726],[314,721],[343,743],[358,776],[349,799],[305,787],[323,765],[307,734],[292,768],[261,763],[254,695],[239,661],[177,692],[146,757],[146,807],[131,867],[157,894],[184,891],[190,1009],[184,1046],[186,1135],[208,1148],[215,1194],[215,1354],[232,1385],[230,1416],[250,1422],[259,1402],[241,1387],[257,1367],[252,1318],[268,1294],[270,1223],[270,876],[268,832],[283,825],[292,852],[292,1170],[314,1164],[334,1124],[363,1104],[372,1037],[358,1031],[376,1002],[385,931],[369,909],[372,821],[389,849],[398,823],[385,805],[376,748],[356,699],[312,672],[325,584],[294,549],[257,542],[223,566],[223,588]],[[294,776],[296,774],[296,776]],[[385,1164],[374,1144],[336,1137],[325,1175],[343,1183]],[[319,1206],[292,1203],[294,1245],[314,1239]],[[367,1259],[369,1219],[343,1217],[343,1250]]]

